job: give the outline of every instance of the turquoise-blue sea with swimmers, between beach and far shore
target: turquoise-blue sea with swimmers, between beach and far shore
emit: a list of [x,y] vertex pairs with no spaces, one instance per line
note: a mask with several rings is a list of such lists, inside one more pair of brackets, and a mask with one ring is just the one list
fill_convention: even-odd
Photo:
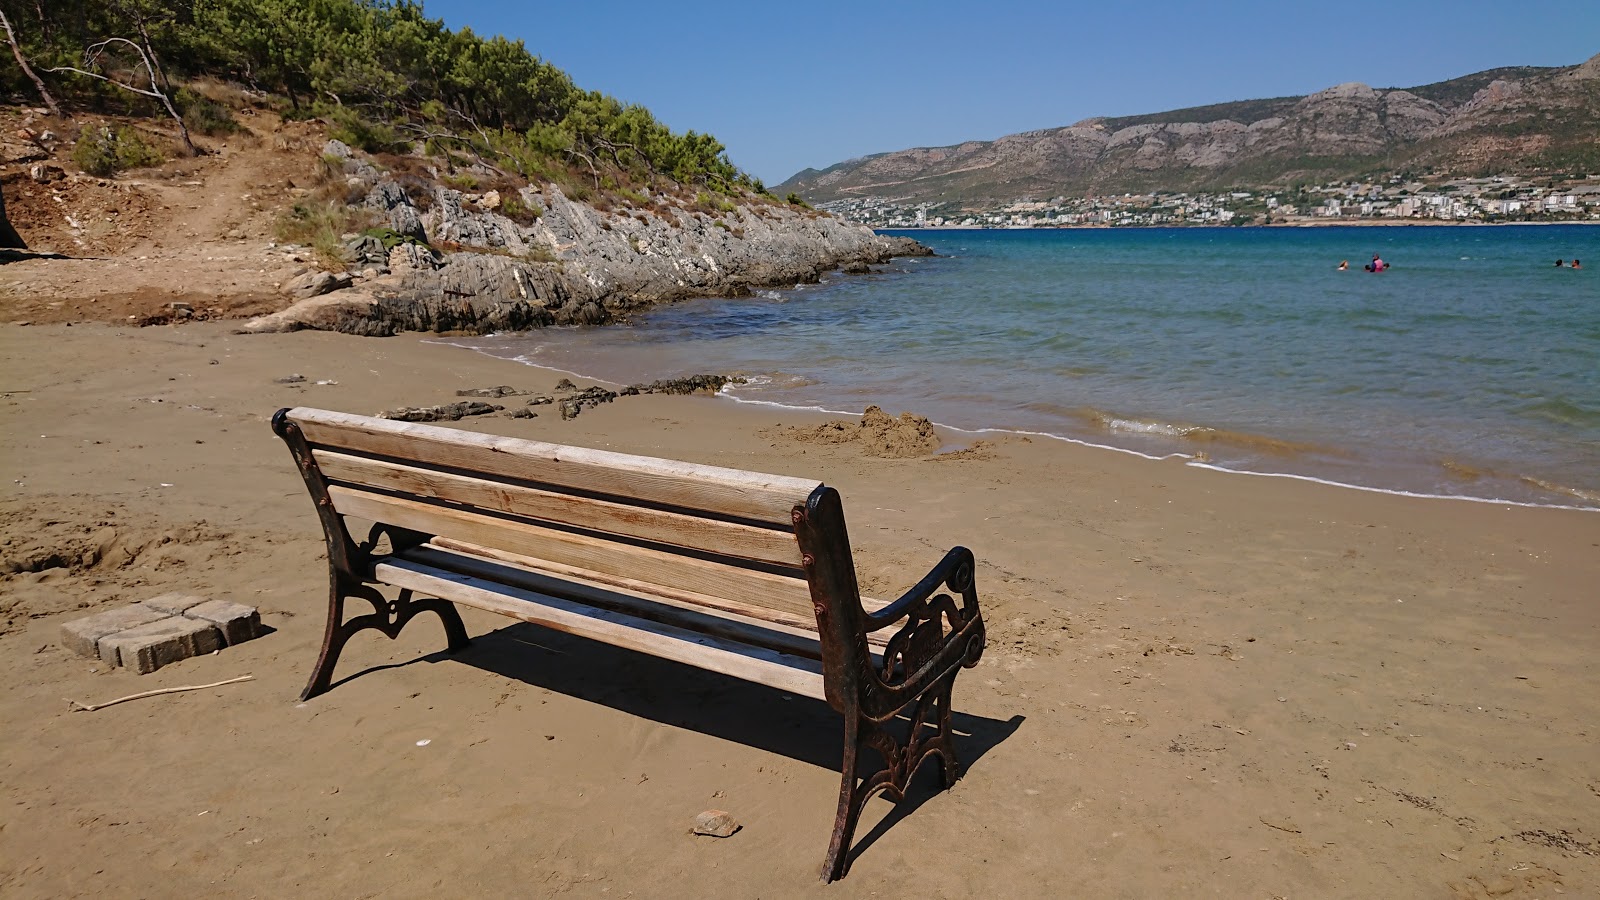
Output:
[[738,372],[736,400],[971,440],[1600,509],[1600,227],[899,234],[939,256],[454,343],[616,383]]

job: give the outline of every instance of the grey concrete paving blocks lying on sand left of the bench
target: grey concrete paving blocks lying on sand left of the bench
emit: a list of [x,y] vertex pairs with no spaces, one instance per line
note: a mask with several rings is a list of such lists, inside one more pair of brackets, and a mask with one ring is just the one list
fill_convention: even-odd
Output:
[[254,607],[192,594],[162,594],[61,626],[67,649],[139,674],[259,636]]

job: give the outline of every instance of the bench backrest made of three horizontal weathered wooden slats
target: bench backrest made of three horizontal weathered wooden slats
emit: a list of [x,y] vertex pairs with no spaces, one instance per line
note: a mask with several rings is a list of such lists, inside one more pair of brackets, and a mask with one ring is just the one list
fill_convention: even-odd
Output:
[[784,618],[819,609],[795,536],[819,482],[304,407],[288,423],[339,516]]

